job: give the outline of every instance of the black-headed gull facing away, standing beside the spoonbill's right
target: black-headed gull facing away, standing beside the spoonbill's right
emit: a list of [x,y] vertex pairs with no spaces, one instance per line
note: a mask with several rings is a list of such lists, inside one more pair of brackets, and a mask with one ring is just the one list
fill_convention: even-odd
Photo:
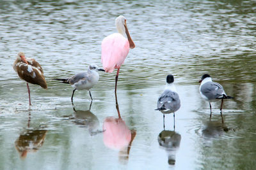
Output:
[[166,77],[166,86],[164,92],[158,98],[156,110],[163,113],[163,121],[164,114],[173,113],[173,120],[175,124],[175,111],[179,110],[180,108],[180,98],[173,81],[173,75],[169,74]]

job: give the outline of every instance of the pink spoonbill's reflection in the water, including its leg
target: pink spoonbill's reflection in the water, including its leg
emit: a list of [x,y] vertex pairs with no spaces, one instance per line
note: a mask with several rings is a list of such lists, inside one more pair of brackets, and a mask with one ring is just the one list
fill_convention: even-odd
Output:
[[[116,94],[115,94],[116,97]],[[128,160],[132,141],[136,136],[135,130],[130,130],[121,118],[117,97],[116,110],[118,118],[107,117],[103,123],[103,142],[104,145],[113,150],[119,150],[119,160]]]

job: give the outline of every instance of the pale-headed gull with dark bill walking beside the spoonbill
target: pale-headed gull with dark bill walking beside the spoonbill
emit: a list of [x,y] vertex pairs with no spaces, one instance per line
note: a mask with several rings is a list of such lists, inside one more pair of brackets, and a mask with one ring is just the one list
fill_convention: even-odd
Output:
[[[99,81],[99,74],[97,73],[97,71],[105,71],[105,70],[99,69],[99,67],[95,64],[91,64],[88,67],[87,72],[78,73],[69,78],[54,78],[54,80],[62,81],[62,83],[68,83],[72,87],[74,87],[72,97],[71,97],[71,102],[73,103],[73,96],[74,96],[74,92],[76,90],[84,90],[84,89],[88,90],[90,97],[92,99],[92,94],[90,92],[90,89],[94,85],[96,85]],[[92,101],[93,101],[93,99],[92,99]]]

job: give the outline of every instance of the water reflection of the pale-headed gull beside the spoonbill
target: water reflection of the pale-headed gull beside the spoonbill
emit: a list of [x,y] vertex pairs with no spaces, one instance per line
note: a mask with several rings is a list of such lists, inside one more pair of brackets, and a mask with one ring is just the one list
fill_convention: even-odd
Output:
[[70,117],[72,122],[81,127],[88,129],[91,136],[102,132],[99,130],[100,122],[99,119],[90,110],[92,107],[92,101],[90,103],[89,110],[76,110],[73,105],[74,117]]

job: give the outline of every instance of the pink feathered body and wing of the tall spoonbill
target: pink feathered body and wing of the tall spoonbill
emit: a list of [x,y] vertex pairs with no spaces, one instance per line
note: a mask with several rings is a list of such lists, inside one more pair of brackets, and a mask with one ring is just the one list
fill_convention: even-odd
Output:
[[122,34],[114,33],[102,40],[101,62],[104,70],[112,73],[119,68],[129,52],[129,41]]

